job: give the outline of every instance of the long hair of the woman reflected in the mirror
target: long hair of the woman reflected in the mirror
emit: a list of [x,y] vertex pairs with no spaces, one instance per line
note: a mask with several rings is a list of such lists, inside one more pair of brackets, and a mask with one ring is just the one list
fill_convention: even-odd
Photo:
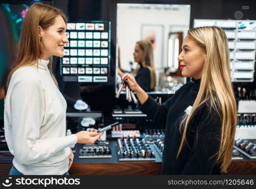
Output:
[[[153,48],[151,42],[148,40],[142,40],[136,42],[137,45],[143,50],[143,61],[141,62],[141,66],[148,67],[151,76],[150,88],[156,88],[156,71],[154,70],[154,55],[153,55]],[[136,75],[139,71],[139,64],[137,64],[136,69],[134,70],[133,74]]]

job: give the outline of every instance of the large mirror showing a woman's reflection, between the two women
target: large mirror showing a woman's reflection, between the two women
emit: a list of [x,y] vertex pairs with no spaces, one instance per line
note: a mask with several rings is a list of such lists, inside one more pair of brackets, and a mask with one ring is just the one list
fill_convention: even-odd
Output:
[[189,21],[190,5],[117,4],[116,88],[125,72],[149,93],[180,88],[177,59]]

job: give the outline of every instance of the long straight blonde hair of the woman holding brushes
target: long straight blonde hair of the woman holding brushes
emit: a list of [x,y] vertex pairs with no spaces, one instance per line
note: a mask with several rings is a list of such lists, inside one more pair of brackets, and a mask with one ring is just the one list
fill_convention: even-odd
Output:
[[217,163],[221,164],[221,171],[226,172],[232,160],[236,130],[236,101],[231,84],[228,40],[224,31],[216,26],[194,28],[189,30],[187,35],[206,53],[206,60],[199,92],[192,110],[184,118],[182,141],[177,157],[186,142],[186,132],[192,116],[197,107],[207,103],[209,109],[218,112],[221,118],[219,151],[214,156],[217,156]]

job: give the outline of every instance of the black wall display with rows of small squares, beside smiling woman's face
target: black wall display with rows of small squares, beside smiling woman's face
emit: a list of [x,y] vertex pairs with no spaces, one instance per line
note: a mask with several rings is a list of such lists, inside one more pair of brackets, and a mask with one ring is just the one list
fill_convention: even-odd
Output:
[[67,23],[61,76],[64,82],[108,83],[110,70],[110,23]]

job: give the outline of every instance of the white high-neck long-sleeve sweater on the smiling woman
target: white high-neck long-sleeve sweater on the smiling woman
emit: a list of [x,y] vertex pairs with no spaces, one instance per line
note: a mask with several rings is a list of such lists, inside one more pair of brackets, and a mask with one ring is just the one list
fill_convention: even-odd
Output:
[[4,130],[13,165],[24,175],[63,175],[68,170],[67,103],[50,76],[49,60],[13,73],[4,103]]

